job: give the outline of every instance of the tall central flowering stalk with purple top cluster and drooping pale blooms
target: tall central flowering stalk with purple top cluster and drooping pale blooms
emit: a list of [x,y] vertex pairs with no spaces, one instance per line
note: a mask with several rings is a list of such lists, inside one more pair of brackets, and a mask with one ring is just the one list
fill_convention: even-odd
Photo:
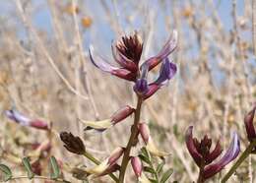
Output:
[[[102,176],[119,170],[118,177],[116,177],[115,175],[113,176],[113,174],[110,175],[114,181],[122,183],[125,181],[127,165],[132,159],[132,165],[135,170],[135,175],[137,176],[139,181],[160,182],[160,177],[157,172],[153,172],[153,174],[155,175],[147,178],[147,176],[142,173],[143,166],[140,166],[141,162],[139,162],[139,158],[131,157],[130,152],[131,149],[137,145],[139,137],[142,137],[142,140],[145,143],[145,148],[142,149],[140,157],[142,158],[142,160],[145,160],[146,162],[148,161],[148,170],[151,168],[152,171],[156,170],[154,169],[153,163],[150,161],[151,155],[163,158],[164,155],[168,154],[168,152],[162,152],[156,147],[153,137],[151,137],[150,129],[148,128],[146,123],[143,123],[141,121],[140,116],[143,102],[154,93],[156,93],[158,90],[160,90],[160,88],[167,85],[168,81],[175,75],[177,71],[176,65],[169,60],[168,55],[176,48],[176,46],[177,31],[174,30],[156,56],[142,61],[141,55],[143,52],[143,41],[138,32],[135,31],[134,34],[130,36],[123,36],[120,40],[114,42],[111,46],[112,55],[114,61],[118,64],[118,67],[111,65],[101,55],[98,55],[93,46],[90,47],[89,55],[92,63],[101,71],[110,73],[111,75],[114,75],[120,79],[130,81],[133,85],[133,91],[137,94],[137,105],[135,108],[125,105],[121,107],[118,111],[114,112],[113,115],[108,119],[103,119],[100,121],[82,120],[82,122],[86,125],[86,131],[96,130],[102,132],[109,129],[111,126],[120,123],[128,116],[134,114],[134,122],[131,127],[131,134],[126,147],[118,147],[106,159],[98,162],[96,167],[86,169],[86,171],[92,176]],[[150,82],[148,80],[148,75],[150,74],[150,71],[157,67],[159,64],[159,77],[155,81]],[[74,147],[73,143],[67,141],[67,139],[69,138],[74,138],[71,137],[70,134],[68,135],[65,132],[61,133],[60,136],[62,141],[65,143],[65,147],[67,148],[67,150],[72,150],[70,152],[74,152],[74,149],[72,148]],[[69,145],[71,146],[70,148]],[[78,150],[77,153],[81,153],[81,151]],[[89,155],[86,150],[83,153],[87,157],[92,159],[92,156]],[[121,156],[121,164],[118,165],[117,160]],[[170,174],[170,170],[163,173],[161,182],[165,182]]]

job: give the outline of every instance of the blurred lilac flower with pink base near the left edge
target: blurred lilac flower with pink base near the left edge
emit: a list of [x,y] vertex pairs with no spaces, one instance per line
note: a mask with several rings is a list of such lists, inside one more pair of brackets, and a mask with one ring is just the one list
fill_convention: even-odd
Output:
[[19,123],[22,126],[30,126],[36,129],[40,130],[48,130],[49,126],[45,121],[41,121],[39,119],[31,119],[30,117],[20,113],[16,109],[10,109],[5,111],[6,116],[15,121],[16,123]]

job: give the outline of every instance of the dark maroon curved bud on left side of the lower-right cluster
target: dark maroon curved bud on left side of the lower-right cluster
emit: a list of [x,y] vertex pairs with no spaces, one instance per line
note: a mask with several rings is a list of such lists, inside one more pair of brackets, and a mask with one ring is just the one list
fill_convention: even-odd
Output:
[[187,146],[188,152],[193,157],[196,164],[198,166],[200,166],[201,159],[203,158],[203,156],[197,151],[196,146],[194,144],[194,141],[193,141],[193,126],[190,126],[187,129],[185,140],[186,140],[186,146]]

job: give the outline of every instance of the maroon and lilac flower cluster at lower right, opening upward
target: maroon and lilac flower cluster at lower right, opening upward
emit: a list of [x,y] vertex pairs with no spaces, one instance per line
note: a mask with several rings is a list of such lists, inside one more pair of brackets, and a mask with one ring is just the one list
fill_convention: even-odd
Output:
[[240,152],[238,136],[236,133],[233,133],[232,142],[223,157],[212,163],[222,153],[220,141],[218,141],[215,149],[211,151],[212,139],[208,138],[206,135],[201,142],[199,142],[196,138],[193,138],[192,130],[193,126],[190,126],[186,131],[186,146],[196,164],[204,169],[202,175],[204,180],[220,172],[224,166],[232,161]]

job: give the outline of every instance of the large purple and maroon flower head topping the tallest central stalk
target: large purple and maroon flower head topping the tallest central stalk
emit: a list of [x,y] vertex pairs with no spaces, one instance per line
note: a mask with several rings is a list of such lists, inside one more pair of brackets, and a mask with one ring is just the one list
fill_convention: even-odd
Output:
[[[123,36],[121,40],[112,43],[112,55],[119,67],[112,66],[103,57],[95,53],[91,46],[89,49],[92,63],[100,70],[117,76],[121,79],[135,82],[134,91],[145,99],[150,97],[176,73],[175,64],[168,61],[167,56],[177,46],[177,32],[174,30],[160,52],[147,59],[141,66],[141,54],[143,51],[143,42],[135,32],[131,36]],[[148,72],[162,62],[160,76],[156,82],[148,85]]]

